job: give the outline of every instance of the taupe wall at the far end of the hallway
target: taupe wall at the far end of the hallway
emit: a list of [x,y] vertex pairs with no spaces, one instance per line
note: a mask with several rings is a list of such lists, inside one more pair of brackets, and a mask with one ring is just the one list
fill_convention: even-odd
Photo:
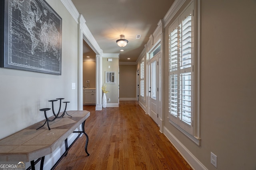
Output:
[[136,98],[136,65],[119,65],[120,98]]

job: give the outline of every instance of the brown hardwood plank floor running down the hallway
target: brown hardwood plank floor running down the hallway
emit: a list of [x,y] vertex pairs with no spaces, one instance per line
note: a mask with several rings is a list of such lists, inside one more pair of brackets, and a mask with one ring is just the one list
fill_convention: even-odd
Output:
[[90,111],[85,122],[89,136],[76,141],[55,170],[192,170],[137,101]]

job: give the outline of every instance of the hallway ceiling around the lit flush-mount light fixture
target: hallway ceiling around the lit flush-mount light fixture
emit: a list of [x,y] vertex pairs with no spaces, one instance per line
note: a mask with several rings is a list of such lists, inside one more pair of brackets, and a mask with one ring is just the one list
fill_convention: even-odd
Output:
[[[120,62],[136,62],[150,35],[174,0],[72,0],[103,53],[120,53]],[[119,47],[125,35],[129,42]],[[135,39],[141,35],[140,39]],[[120,49],[124,49],[123,52]],[[127,60],[130,58],[130,60]]]

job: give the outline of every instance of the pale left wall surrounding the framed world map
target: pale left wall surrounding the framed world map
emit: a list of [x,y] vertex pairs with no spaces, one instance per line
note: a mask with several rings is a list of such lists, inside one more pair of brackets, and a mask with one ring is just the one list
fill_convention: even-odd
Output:
[[62,75],[0,68],[0,139],[45,119],[39,109],[51,108],[48,100],[65,98],[68,110],[78,109],[78,24],[60,0],[46,1],[62,18]]

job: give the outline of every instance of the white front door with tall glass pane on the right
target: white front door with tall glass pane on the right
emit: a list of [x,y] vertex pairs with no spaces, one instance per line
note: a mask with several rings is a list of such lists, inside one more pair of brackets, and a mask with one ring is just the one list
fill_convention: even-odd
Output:
[[148,62],[149,115],[158,125],[158,55]]

